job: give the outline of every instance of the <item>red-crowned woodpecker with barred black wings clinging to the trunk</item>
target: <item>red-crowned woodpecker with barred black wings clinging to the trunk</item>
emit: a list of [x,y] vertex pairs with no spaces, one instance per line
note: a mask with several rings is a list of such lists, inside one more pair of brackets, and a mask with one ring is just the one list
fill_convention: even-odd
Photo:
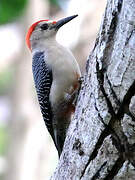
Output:
[[41,113],[59,156],[75,110],[81,72],[73,54],[56,41],[56,34],[60,27],[77,16],[37,21],[26,35]]

